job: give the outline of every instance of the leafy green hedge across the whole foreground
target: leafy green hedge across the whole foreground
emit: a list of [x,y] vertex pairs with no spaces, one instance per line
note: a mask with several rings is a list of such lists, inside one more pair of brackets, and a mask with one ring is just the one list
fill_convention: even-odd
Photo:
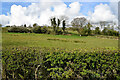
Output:
[[119,51],[3,49],[3,80],[120,79]]

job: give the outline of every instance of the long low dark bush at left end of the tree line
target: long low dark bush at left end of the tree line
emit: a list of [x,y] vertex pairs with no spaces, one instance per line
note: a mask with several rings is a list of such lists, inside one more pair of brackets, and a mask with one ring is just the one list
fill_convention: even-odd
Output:
[[31,32],[31,30],[29,30],[26,27],[10,27],[8,29],[8,32],[14,32],[14,33],[28,33]]

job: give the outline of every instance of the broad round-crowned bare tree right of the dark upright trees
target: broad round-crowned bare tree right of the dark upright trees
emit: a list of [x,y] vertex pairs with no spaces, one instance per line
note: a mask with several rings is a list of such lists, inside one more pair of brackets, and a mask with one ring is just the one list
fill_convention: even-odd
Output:
[[77,32],[81,35],[81,30],[83,29],[86,22],[87,22],[87,19],[84,17],[81,17],[81,18],[73,19],[71,24],[74,28],[76,28]]

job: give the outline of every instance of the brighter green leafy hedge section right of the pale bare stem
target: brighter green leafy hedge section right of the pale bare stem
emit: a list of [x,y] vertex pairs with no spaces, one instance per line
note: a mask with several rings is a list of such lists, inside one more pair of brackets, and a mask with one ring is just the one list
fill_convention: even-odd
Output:
[[50,79],[119,79],[119,52],[54,52],[45,56]]

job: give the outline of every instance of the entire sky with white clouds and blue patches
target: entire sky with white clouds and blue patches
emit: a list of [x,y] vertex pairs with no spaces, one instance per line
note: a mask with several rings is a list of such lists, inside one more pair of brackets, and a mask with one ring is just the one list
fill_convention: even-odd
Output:
[[117,2],[2,2],[2,25],[50,25],[51,16],[86,17],[92,22],[117,21]]

